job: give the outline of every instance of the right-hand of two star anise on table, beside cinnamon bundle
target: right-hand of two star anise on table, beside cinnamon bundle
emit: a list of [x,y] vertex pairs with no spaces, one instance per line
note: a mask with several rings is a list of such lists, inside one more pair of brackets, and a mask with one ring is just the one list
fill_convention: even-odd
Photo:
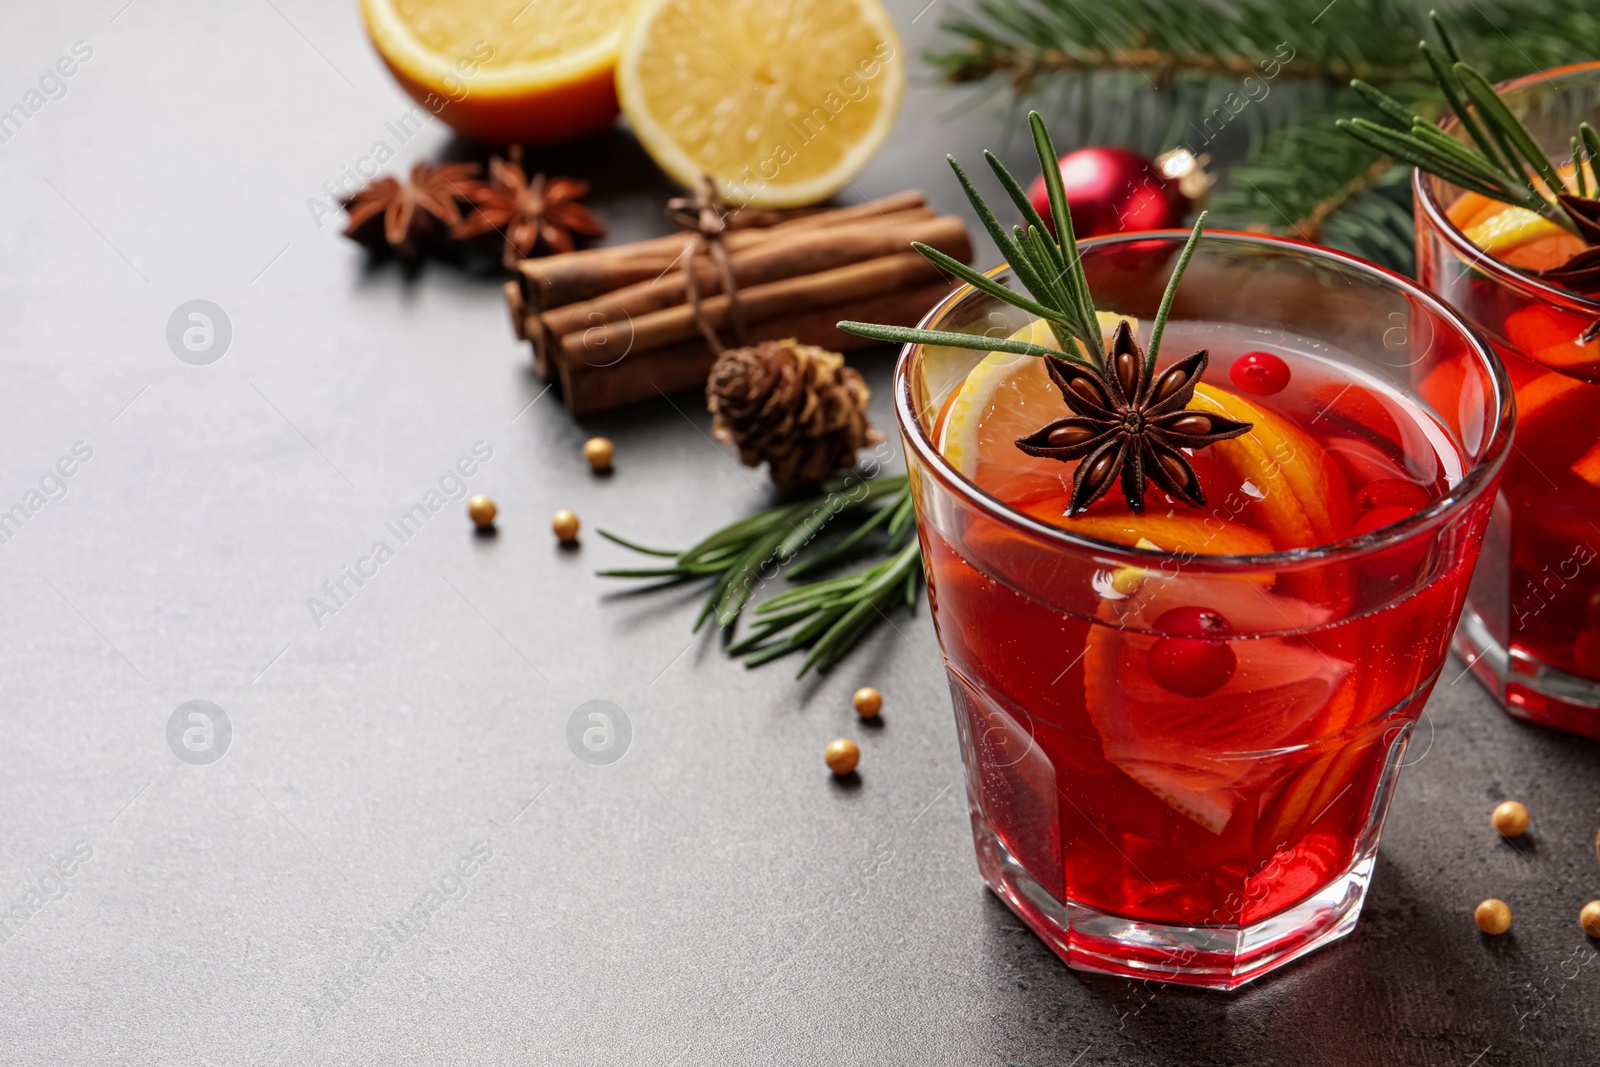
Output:
[[541,242],[550,251],[573,251],[574,234],[605,237],[600,219],[578,203],[589,194],[589,182],[544,174],[528,178],[522,170],[522,146],[512,146],[509,160],[490,160],[490,179],[472,194],[477,211],[453,232],[474,237],[498,230],[506,238],[507,267],[531,256]]

